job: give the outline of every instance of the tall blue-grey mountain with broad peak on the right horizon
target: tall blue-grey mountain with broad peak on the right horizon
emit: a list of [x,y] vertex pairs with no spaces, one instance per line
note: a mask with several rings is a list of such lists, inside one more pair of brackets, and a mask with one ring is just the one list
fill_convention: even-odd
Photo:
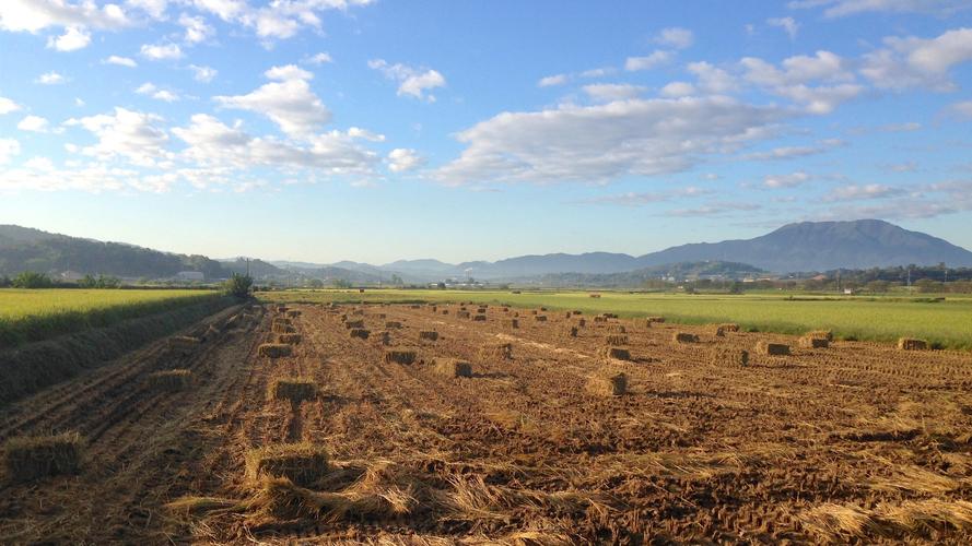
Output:
[[887,265],[972,265],[972,252],[880,219],[787,224],[753,239],[698,242],[637,259],[641,266],[724,260],[778,273]]

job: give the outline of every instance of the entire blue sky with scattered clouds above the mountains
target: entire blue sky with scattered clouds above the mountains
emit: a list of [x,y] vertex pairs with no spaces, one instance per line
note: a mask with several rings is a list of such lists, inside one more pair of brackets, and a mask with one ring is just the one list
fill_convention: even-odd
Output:
[[0,224],[213,258],[972,248],[972,0],[0,1]]

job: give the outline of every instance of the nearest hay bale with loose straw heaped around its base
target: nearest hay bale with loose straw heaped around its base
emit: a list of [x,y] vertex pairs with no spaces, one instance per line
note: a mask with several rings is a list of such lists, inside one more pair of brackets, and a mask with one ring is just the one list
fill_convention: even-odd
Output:
[[307,487],[327,475],[328,467],[327,451],[309,442],[269,446],[246,454],[246,477],[250,485],[270,476],[285,477]]

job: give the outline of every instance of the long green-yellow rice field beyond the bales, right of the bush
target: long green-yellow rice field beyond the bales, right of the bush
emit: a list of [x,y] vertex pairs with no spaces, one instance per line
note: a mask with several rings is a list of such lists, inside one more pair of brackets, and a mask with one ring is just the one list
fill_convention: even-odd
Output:
[[[663,316],[672,322],[736,322],[748,330],[800,334],[833,330],[844,340],[894,342],[921,337],[933,346],[972,351],[972,297],[843,297],[819,294],[629,294],[497,290],[284,290],[259,293],[267,301],[472,301],[522,308],[577,309],[622,317]],[[924,296],[924,295],[923,295]]]

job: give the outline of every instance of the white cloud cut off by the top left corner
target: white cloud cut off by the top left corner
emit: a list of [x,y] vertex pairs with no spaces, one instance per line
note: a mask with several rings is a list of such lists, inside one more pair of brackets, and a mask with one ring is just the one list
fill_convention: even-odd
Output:
[[86,0],[3,0],[0,2],[0,29],[36,34],[47,27],[122,28],[131,24],[120,7],[106,3],[98,8]]

